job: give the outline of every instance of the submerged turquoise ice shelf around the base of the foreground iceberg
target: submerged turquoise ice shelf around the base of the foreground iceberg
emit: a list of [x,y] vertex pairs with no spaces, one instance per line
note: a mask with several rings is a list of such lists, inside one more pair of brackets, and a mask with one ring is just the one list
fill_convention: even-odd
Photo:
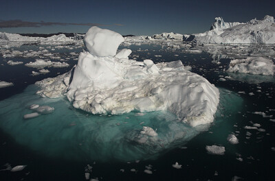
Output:
[[[208,129],[208,125],[191,128],[176,121],[168,112],[130,112],[120,116],[88,114],[73,108],[65,98],[41,98],[35,94],[36,90],[32,85],[23,93],[1,101],[0,125],[19,143],[47,156],[102,161],[156,158],[162,151],[182,145]],[[215,121],[221,121],[220,115],[228,114],[232,111],[231,105],[241,101],[227,90],[220,92],[221,103]],[[23,119],[23,115],[32,113],[28,108],[32,104],[54,107],[54,112]],[[158,135],[147,136],[148,141],[140,144],[135,137],[143,126],[153,128]]]

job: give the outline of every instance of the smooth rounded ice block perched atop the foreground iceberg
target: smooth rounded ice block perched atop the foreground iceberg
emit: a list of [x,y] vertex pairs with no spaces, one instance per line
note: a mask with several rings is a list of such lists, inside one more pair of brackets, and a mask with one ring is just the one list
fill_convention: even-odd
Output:
[[88,51],[94,56],[115,56],[120,43],[124,38],[109,29],[91,27],[84,37]]

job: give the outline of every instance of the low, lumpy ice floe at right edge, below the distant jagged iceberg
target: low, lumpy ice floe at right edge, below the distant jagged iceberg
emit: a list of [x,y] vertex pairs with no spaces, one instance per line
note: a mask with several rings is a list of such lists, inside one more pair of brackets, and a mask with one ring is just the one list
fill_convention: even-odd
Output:
[[248,57],[231,60],[228,72],[274,75],[275,65],[272,60],[263,57]]

